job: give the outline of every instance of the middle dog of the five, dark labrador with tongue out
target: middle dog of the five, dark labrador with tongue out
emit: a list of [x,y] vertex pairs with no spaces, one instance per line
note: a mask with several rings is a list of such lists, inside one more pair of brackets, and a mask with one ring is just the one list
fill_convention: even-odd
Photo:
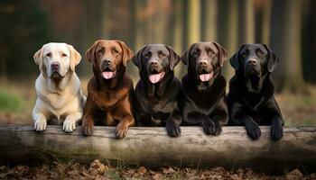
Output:
[[169,46],[148,44],[132,59],[140,75],[135,87],[137,125],[165,125],[170,136],[179,136],[181,83],[174,76],[173,68],[180,62],[180,56]]

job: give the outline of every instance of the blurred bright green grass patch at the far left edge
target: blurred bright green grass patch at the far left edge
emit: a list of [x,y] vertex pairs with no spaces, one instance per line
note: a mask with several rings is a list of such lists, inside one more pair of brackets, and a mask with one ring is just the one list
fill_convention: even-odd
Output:
[[22,108],[22,97],[0,89],[0,112],[19,112]]

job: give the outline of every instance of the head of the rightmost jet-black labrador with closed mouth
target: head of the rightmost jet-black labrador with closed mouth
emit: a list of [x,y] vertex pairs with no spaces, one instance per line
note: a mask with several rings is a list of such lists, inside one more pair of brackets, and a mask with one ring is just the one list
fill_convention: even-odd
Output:
[[246,78],[252,78],[274,71],[279,58],[265,44],[244,44],[229,61],[237,72]]

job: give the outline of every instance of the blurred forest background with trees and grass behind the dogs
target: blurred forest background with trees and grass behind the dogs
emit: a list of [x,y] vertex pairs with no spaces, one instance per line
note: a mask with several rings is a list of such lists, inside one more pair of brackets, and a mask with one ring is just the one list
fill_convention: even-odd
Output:
[[[268,44],[281,58],[273,77],[286,125],[316,125],[315,0],[1,0],[0,123],[32,123],[33,53],[67,42],[82,60],[77,72],[87,92],[86,49],[98,39],[119,39],[135,52],[165,43],[181,54],[198,41],[218,41],[232,56],[243,43]],[[133,63],[127,71],[135,83]],[[185,73],[181,63],[176,76]],[[234,74],[228,61],[227,80]]]

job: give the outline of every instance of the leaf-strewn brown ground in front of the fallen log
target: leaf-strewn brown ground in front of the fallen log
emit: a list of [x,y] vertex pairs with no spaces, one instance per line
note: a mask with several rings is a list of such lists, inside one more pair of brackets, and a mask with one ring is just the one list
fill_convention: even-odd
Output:
[[141,166],[139,168],[128,168],[125,166],[111,167],[102,164],[98,160],[89,166],[78,163],[59,164],[51,166],[14,166],[8,168],[0,166],[0,179],[280,179],[299,180],[316,179],[316,174],[302,175],[298,169],[276,176],[265,175],[253,172],[250,169],[238,169],[232,173],[222,167],[211,169],[191,169],[191,168],[161,168],[151,170]]

